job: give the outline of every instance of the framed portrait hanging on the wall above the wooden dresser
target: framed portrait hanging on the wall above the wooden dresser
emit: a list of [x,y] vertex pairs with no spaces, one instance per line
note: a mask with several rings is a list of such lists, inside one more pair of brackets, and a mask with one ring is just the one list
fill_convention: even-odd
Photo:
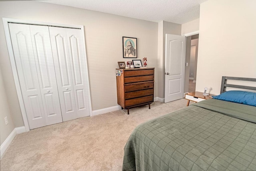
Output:
[[123,37],[123,58],[137,58],[137,38]]

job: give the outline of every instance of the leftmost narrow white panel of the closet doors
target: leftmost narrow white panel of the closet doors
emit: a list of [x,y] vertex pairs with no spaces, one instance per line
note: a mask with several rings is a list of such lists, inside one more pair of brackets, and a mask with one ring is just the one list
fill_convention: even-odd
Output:
[[22,98],[30,129],[46,125],[29,25],[9,23]]

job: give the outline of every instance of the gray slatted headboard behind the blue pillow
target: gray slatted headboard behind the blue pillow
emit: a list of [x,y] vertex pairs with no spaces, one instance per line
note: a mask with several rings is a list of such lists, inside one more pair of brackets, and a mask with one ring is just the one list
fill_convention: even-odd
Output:
[[221,87],[220,87],[220,93],[225,92],[225,91],[226,91],[226,87],[233,87],[233,88],[240,88],[240,89],[256,90],[256,87],[250,87],[250,86],[245,86],[245,85],[226,84],[226,83],[227,83],[227,80],[239,80],[239,81],[256,82],[256,78],[242,78],[242,77],[227,77],[227,76],[222,76]]

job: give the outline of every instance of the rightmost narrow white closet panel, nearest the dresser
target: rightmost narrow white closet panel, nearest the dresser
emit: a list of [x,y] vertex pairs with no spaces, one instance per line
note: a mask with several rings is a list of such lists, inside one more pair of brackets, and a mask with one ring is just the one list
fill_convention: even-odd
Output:
[[86,80],[86,54],[84,50],[84,37],[80,29],[66,28],[68,48],[76,101],[77,117],[90,115],[87,80]]

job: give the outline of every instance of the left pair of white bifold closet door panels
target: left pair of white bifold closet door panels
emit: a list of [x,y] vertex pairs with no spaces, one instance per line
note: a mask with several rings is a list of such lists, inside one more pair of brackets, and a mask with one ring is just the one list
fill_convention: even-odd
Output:
[[30,129],[62,122],[48,27],[9,23],[9,29]]

